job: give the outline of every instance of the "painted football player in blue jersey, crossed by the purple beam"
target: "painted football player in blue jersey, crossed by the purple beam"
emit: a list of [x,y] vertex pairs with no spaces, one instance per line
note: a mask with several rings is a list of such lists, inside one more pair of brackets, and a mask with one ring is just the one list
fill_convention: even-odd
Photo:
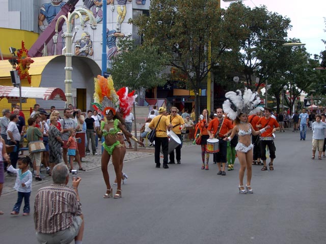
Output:
[[[41,6],[38,24],[40,30],[44,32],[45,25],[44,20],[46,20],[47,24],[50,24],[52,20],[56,17],[56,15],[60,12],[62,6],[66,3],[62,2],[62,0],[52,0],[51,3],[46,3]],[[52,40],[50,40],[46,46],[47,55],[55,55],[61,54],[63,48],[63,32],[59,32],[58,35],[53,36]]]

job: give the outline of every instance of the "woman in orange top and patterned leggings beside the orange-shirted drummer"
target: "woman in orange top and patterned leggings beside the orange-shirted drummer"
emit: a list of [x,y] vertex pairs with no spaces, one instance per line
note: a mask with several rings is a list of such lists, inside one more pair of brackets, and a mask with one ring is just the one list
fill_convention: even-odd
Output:
[[[196,137],[196,144],[201,145],[201,150],[202,150],[202,168],[208,170],[208,160],[209,160],[209,153],[207,153],[207,139],[209,139],[209,135],[207,132],[207,127],[209,122],[212,120],[211,118],[208,117],[208,110],[207,108],[203,109],[202,114],[199,116],[200,121],[198,121],[197,126],[196,126],[196,135],[197,131],[200,132],[199,135]],[[201,138],[201,140],[200,140]]]

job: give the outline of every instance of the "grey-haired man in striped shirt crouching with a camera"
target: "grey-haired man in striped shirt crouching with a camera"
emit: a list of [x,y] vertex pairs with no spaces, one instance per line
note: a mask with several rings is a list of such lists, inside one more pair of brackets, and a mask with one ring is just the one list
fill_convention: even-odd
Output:
[[34,223],[39,243],[69,244],[75,239],[82,244],[84,217],[79,202],[80,177],[74,177],[68,187],[69,170],[57,164],[52,170],[53,184],[38,190],[34,204]]

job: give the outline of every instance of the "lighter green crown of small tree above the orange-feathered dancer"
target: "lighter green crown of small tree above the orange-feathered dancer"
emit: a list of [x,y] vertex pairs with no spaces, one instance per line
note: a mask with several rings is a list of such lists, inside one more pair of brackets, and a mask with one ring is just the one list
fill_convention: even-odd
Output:
[[162,71],[166,68],[169,55],[159,53],[157,46],[139,46],[133,41],[122,40],[119,48],[109,70],[117,89],[122,86],[148,89],[166,83],[167,77]]

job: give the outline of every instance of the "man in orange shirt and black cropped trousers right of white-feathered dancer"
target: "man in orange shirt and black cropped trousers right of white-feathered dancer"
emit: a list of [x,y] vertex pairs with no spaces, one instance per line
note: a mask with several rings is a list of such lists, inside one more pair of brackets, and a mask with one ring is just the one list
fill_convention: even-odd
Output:
[[256,127],[257,128],[265,128],[266,126],[269,126],[269,129],[266,129],[266,131],[260,135],[260,153],[261,153],[261,159],[264,163],[264,166],[261,170],[267,170],[266,166],[266,146],[268,146],[269,149],[269,158],[270,163],[269,170],[274,170],[273,161],[276,158],[275,151],[276,147],[274,144],[274,135],[276,131],[280,130],[279,123],[277,123],[276,119],[271,117],[271,109],[265,108],[264,109],[264,117],[261,117],[259,121],[257,122]]

